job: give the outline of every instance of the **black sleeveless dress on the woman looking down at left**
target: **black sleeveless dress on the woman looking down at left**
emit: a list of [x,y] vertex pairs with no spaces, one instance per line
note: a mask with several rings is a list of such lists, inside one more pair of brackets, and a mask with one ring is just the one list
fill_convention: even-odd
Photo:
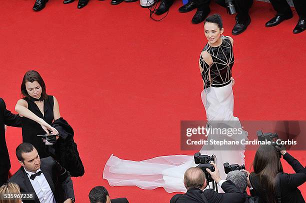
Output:
[[[47,99],[43,100],[43,112],[40,112],[38,106],[34,102],[34,99],[23,98],[27,102],[27,108],[32,111],[35,115],[42,118],[48,124],[51,124],[54,118],[53,115],[53,96],[48,95]],[[21,117],[22,121],[22,142],[29,142],[35,146],[38,151],[40,158],[44,158],[49,154],[45,150],[45,142],[37,134],[45,134],[45,131],[41,128],[41,125],[27,117]]]

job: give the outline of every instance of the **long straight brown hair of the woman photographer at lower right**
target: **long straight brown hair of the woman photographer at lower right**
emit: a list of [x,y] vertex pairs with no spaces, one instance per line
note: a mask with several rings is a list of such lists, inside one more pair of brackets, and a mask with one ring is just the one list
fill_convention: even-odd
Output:
[[253,168],[259,176],[260,186],[266,191],[267,202],[276,202],[276,175],[283,172],[283,169],[275,147],[270,144],[260,145],[255,153]]

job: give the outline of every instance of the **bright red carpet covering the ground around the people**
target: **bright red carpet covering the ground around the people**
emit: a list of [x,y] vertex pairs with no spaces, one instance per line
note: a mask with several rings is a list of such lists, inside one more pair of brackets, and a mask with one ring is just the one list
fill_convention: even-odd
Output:
[[[130,202],[168,202],[173,194],[163,188],[110,187],[102,169],[111,153],[133,160],[194,153],[180,151],[179,121],[205,119],[198,57],[206,39],[203,25],[190,22],[195,11],[178,13],[177,0],[155,22],[138,2],[90,0],[77,9],[77,2],[49,0],[39,12],[31,10],[33,2],[1,2],[0,96],[7,107],[20,98],[25,71],[38,70],[75,130],[85,166],[85,175],[73,178],[77,202],[88,202],[95,185]],[[234,16],[212,3],[215,12],[223,17],[224,34],[231,35]],[[306,32],[292,34],[296,13],[271,28],[264,27],[274,15],[270,4],[256,1],[250,15],[247,30],[233,36],[234,114],[241,120],[305,119]],[[6,141],[14,172],[21,130],[9,127]],[[247,167],[253,154],[246,152]],[[291,154],[306,163],[304,151]],[[292,172],[286,163],[284,168]],[[306,195],[306,185],[299,188]]]

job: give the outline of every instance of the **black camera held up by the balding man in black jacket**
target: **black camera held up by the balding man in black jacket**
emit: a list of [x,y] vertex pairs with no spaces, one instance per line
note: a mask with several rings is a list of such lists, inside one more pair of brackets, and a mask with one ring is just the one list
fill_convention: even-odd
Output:
[[201,155],[200,152],[197,152],[197,153],[194,154],[194,162],[195,162],[195,164],[198,164],[197,167],[201,168],[202,171],[205,173],[205,177],[206,177],[207,182],[212,182],[213,181],[209,172],[206,171],[206,168],[210,169],[211,172],[214,171],[214,166],[212,164],[210,164],[210,161],[214,162],[214,155],[212,155],[212,156]]

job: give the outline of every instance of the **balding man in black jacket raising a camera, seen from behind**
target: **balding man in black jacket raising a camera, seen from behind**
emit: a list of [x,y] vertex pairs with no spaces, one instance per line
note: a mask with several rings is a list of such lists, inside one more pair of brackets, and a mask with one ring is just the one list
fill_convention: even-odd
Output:
[[214,171],[211,172],[208,168],[206,171],[225,193],[218,193],[213,189],[203,190],[207,186],[205,173],[199,167],[191,167],[184,174],[184,185],[187,192],[175,194],[170,199],[170,203],[243,203],[244,195],[240,190],[230,180],[221,180],[216,164],[211,164],[215,168]]

